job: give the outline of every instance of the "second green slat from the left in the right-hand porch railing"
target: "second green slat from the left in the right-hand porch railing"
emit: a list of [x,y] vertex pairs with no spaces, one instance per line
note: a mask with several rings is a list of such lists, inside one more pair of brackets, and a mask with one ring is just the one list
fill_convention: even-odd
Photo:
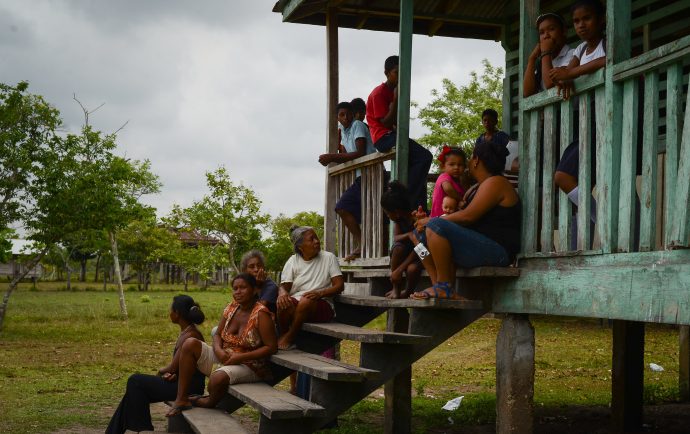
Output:
[[555,104],[544,108],[544,162],[542,164],[542,215],[541,215],[541,251],[552,252],[554,229],[554,183],[555,151],[557,145],[557,127]]

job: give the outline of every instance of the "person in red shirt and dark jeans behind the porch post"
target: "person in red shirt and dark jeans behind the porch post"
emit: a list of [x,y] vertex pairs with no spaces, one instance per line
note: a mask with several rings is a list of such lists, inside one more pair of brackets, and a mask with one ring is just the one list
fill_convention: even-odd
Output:
[[[398,115],[398,56],[386,59],[383,72],[386,81],[376,86],[367,100],[367,124],[371,131],[374,148],[388,152],[397,140],[396,125]],[[407,188],[410,201],[416,207],[427,210],[426,175],[433,159],[431,152],[419,143],[409,139],[407,160]]]

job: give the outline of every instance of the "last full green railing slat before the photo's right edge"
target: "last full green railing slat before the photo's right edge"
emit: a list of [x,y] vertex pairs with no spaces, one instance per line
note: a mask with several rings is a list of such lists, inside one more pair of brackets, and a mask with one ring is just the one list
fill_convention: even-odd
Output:
[[678,176],[678,155],[681,143],[683,104],[683,64],[678,62],[666,72],[666,165],[664,167],[664,245],[673,240],[673,203]]

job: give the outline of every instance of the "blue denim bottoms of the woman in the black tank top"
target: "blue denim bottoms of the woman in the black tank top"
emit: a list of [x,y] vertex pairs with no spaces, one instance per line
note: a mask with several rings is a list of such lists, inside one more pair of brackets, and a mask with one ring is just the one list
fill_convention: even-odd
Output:
[[[472,268],[486,265],[505,267],[510,265],[510,255],[506,249],[479,232],[440,217],[429,220],[426,227],[436,235],[448,240],[453,253],[453,262],[459,267]],[[427,244],[425,238],[420,238],[420,241]],[[434,261],[439,260],[433,256],[432,259]]]

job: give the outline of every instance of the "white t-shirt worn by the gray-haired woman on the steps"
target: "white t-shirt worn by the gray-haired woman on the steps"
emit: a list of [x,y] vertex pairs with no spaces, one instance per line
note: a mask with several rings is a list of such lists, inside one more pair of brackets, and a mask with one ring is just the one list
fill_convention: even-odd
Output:
[[[299,300],[305,292],[328,288],[331,286],[331,277],[342,275],[338,258],[331,252],[321,250],[309,261],[297,254],[290,256],[283,267],[280,283],[292,283],[290,296]],[[333,307],[330,297],[323,299]]]

